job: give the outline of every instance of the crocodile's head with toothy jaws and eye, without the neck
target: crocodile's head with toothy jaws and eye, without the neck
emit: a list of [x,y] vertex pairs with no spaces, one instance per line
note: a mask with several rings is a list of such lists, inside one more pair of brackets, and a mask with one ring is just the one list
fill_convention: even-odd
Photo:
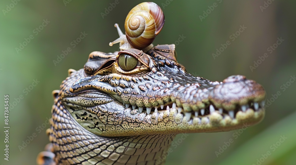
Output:
[[261,85],[242,75],[194,77],[174,44],[92,52],[84,69],[70,70],[59,96],[79,125],[105,137],[230,131],[265,114]]

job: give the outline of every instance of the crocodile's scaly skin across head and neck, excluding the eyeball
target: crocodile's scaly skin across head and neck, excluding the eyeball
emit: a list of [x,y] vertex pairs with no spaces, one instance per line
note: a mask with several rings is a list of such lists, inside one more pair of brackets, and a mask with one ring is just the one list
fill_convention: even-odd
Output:
[[[122,53],[139,60],[135,69],[119,67]],[[261,85],[241,75],[194,77],[177,62],[173,44],[119,55],[92,52],[53,92],[52,164],[164,164],[178,133],[230,131],[264,117]]]

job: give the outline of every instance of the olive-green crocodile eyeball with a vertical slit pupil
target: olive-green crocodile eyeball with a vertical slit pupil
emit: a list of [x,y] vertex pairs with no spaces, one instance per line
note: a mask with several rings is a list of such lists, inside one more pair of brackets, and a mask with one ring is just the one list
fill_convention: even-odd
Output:
[[121,54],[118,57],[118,65],[121,67],[122,70],[130,71],[134,69],[138,64],[138,60],[130,55]]

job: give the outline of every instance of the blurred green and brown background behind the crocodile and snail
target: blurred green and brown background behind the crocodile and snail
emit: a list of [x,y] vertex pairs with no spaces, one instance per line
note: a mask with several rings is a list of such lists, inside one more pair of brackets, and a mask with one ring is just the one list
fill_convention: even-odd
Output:
[[[11,107],[9,161],[4,160],[4,128],[1,128],[0,164],[35,164],[37,154],[49,142],[45,130],[49,128],[46,118],[51,116],[52,90],[59,89],[68,69],[83,68],[92,51],[118,50],[118,45],[108,46],[118,38],[114,24],[118,23],[123,30],[127,13],[142,1],[119,0],[119,4],[106,12],[105,8],[114,2],[0,2],[1,126],[5,126],[4,94],[9,94]],[[212,81],[222,81],[230,75],[245,75],[263,85],[267,99],[274,101],[266,108],[265,119],[239,136],[234,136],[235,131],[190,134],[173,148],[166,164],[295,164],[296,82],[289,83],[289,80],[296,74],[296,1],[154,2],[165,14],[165,25],[154,44],[177,44],[178,62],[189,73]],[[213,5],[216,7],[211,7]],[[247,28],[237,32],[240,26]],[[86,37],[73,47],[71,42],[81,32],[85,32]],[[233,33],[239,34],[234,40]],[[183,39],[179,39],[179,35],[183,35]],[[28,39],[30,36],[32,39]],[[274,45],[278,38],[284,41]],[[178,39],[182,41],[177,42]],[[212,54],[227,41],[231,44],[214,59]],[[20,46],[23,43],[24,47]],[[268,49],[270,46],[276,48]],[[68,47],[71,51],[67,56],[54,63],[53,60],[58,60],[57,56]],[[259,56],[264,53],[268,57],[260,62]],[[258,60],[260,64],[251,70],[250,66],[254,67],[254,61]],[[30,86],[34,80],[39,81],[38,84]],[[278,91],[280,95],[276,95]],[[14,101],[15,106],[12,105]],[[20,151],[22,141],[33,133],[36,137]],[[279,143],[281,136],[287,139]],[[229,139],[233,139],[233,143],[226,149],[224,146],[223,152],[219,151]],[[273,144],[280,146],[274,149],[270,147]],[[271,155],[264,158],[268,151]]]

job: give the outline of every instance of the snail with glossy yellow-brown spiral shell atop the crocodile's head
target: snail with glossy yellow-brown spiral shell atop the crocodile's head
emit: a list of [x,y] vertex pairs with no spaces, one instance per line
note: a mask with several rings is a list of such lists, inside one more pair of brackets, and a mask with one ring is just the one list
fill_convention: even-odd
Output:
[[153,47],[153,40],[163,28],[165,17],[161,8],[153,2],[143,2],[128,13],[124,24],[126,34],[117,28],[119,38],[109,43],[109,46],[119,42],[121,50],[140,49],[144,52]]

